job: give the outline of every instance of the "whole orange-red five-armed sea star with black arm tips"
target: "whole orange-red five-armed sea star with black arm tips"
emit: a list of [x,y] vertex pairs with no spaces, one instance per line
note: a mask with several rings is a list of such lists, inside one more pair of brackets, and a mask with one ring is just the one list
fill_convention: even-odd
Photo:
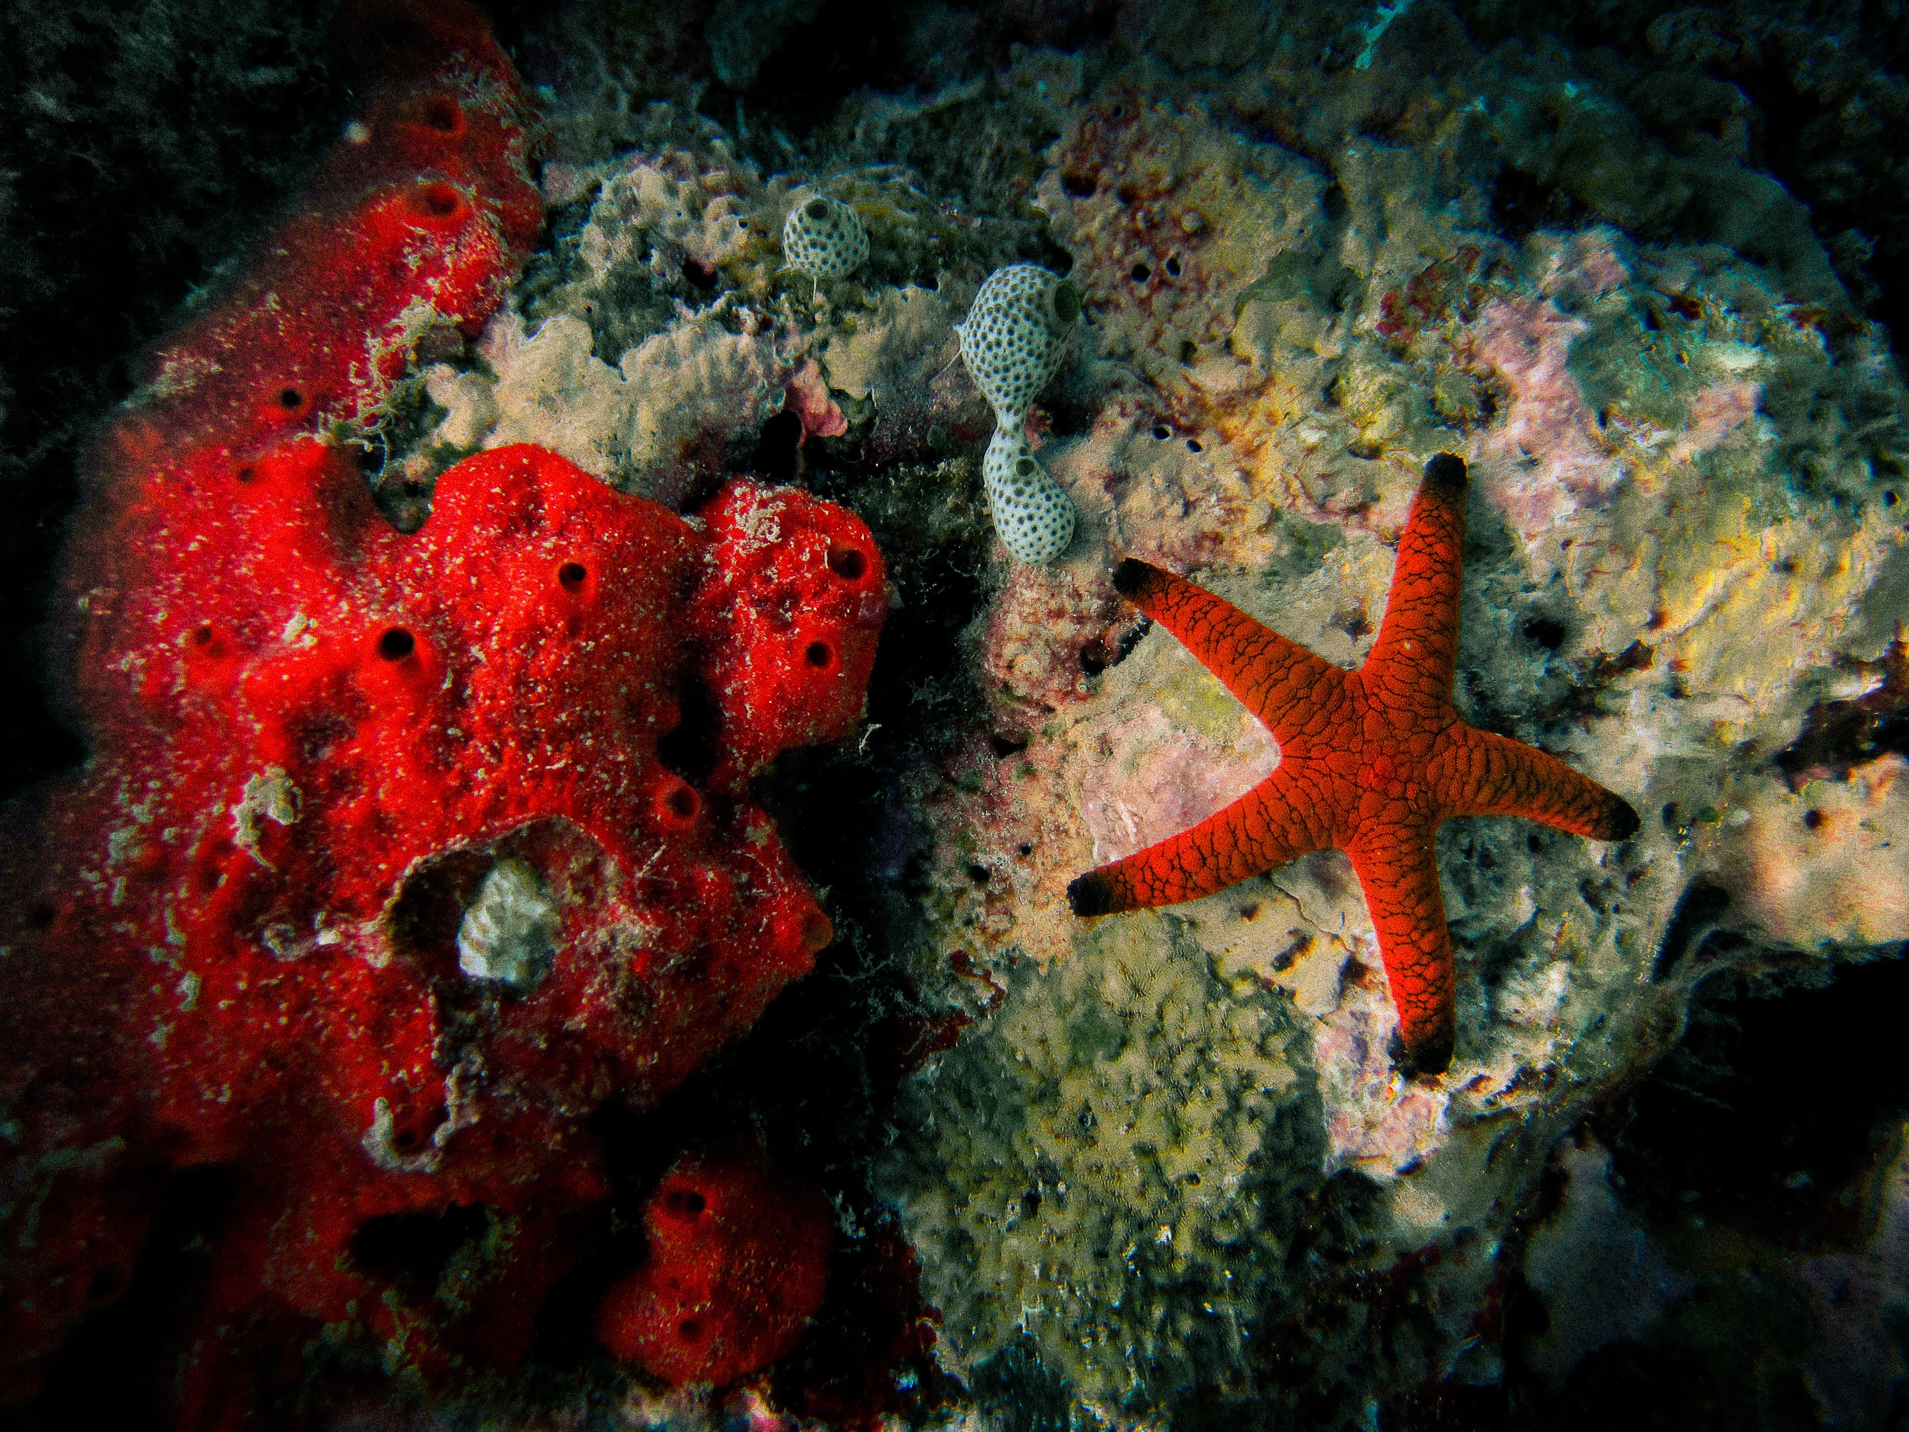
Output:
[[1352,857],[1378,930],[1407,1073],[1451,1062],[1451,936],[1434,836],[1453,815],[1521,815],[1623,840],[1638,813],[1556,756],[1478,731],[1451,705],[1458,651],[1464,462],[1441,453],[1413,498],[1392,594],[1365,664],[1348,672],[1182,577],[1128,558],[1113,584],[1258,716],[1279,768],[1191,831],[1088,871],[1075,915],[1174,905],[1296,855]]

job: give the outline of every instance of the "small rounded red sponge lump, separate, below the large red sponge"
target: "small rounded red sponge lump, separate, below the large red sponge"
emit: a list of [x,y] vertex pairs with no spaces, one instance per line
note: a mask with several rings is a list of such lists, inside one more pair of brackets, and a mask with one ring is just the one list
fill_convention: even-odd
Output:
[[823,1306],[829,1201],[750,1153],[689,1153],[643,1211],[649,1260],[611,1287],[598,1337],[666,1382],[733,1382],[787,1354]]

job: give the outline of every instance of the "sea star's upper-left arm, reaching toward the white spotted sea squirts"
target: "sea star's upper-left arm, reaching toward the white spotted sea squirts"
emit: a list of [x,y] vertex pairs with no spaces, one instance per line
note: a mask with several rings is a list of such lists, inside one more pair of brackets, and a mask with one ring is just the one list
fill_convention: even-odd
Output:
[[1321,684],[1344,678],[1332,663],[1185,577],[1128,558],[1115,569],[1113,584],[1218,676],[1275,741],[1292,739]]

